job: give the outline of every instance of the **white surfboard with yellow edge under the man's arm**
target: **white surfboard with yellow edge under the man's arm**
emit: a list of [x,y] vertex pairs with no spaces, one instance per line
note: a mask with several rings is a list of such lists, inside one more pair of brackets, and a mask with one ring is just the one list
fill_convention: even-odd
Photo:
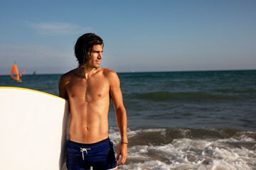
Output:
[[0,87],[0,169],[66,169],[69,115],[63,98]]

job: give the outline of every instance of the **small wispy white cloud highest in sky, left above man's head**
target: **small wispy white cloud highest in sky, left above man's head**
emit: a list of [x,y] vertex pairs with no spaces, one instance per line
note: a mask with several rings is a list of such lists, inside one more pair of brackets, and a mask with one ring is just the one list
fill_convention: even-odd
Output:
[[73,35],[91,30],[73,23],[35,23],[30,26],[41,35]]

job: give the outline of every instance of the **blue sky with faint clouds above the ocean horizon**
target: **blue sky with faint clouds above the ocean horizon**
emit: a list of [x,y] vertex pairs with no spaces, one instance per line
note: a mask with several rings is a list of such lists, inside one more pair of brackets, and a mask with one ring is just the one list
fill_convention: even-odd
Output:
[[116,72],[256,69],[255,0],[2,0],[0,23],[0,74],[68,72],[89,32]]

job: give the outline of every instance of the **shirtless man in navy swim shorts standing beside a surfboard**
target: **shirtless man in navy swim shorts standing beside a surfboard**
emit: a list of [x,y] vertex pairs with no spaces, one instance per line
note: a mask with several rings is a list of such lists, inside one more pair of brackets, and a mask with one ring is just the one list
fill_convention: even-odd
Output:
[[[70,103],[68,170],[90,169],[91,166],[94,170],[117,169],[127,158],[127,115],[117,74],[100,67],[103,45],[102,39],[93,33],[78,38],[75,57],[79,66],[63,74],[59,81],[59,96]],[[108,138],[110,98],[121,135],[116,158]]]

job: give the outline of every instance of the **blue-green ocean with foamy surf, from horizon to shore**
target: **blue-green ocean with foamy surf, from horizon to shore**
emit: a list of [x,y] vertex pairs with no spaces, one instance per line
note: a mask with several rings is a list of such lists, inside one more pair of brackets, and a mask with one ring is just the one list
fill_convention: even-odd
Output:
[[[0,76],[58,96],[60,74]],[[256,169],[256,70],[118,73],[128,157],[118,169]],[[119,145],[114,108],[110,139]]]

